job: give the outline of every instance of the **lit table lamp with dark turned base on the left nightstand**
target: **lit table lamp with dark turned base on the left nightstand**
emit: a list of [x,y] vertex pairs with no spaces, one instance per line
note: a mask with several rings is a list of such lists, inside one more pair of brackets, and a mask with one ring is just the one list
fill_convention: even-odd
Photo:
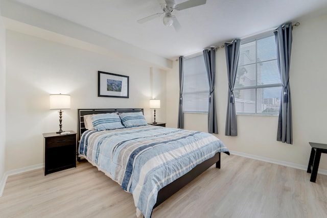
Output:
[[71,95],[69,94],[50,94],[50,109],[59,109],[59,131],[62,133],[62,109],[71,109]]

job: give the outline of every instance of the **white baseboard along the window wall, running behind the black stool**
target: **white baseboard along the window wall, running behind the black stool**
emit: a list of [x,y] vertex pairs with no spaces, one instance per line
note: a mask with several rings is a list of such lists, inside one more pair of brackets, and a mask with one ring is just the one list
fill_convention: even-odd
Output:
[[[230,152],[230,154],[233,154],[233,155],[247,157],[247,158],[251,158],[251,159],[255,159],[255,160],[261,160],[261,161],[265,161],[268,163],[275,163],[275,164],[279,164],[279,165],[283,165],[283,166],[289,166],[289,167],[296,168],[296,169],[302,169],[303,171],[307,171],[307,169],[308,169],[308,165],[300,165],[300,164],[296,164],[296,163],[290,163],[290,162],[286,162],[286,161],[282,161],[282,160],[275,160],[275,159],[270,159],[270,158],[266,158],[266,157],[255,156],[255,155],[246,154],[246,153],[242,153],[242,152],[234,152],[234,151],[229,151],[229,152]],[[322,175],[327,175],[327,170],[326,169],[318,169],[318,173],[322,174]]]

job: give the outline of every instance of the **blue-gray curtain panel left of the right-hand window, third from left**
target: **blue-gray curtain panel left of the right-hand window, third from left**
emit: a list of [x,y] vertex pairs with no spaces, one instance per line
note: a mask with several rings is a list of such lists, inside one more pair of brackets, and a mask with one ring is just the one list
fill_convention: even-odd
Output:
[[241,40],[233,40],[232,43],[225,43],[227,77],[228,77],[228,102],[226,114],[225,135],[237,136],[237,120],[234,99],[234,85],[237,74],[237,65],[240,56]]

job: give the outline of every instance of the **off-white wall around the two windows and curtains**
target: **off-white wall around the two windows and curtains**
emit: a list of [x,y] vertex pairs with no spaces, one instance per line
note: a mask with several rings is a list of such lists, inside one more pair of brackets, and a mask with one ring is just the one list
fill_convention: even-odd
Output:
[[[276,141],[277,116],[238,115],[238,136],[225,136],[227,108],[227,72],[224,49],[216,53],[216,101],[218,109],[219,137],[235,152],[285,161],[305,166],[308,164],[309,141],[327,143],[327,15],[301,20],[293,29],[290,86],[293,111],[293,144]],[[177,82],[176,82],[177,81]],[[169,125],[177,127],[178,88],[170,90],[170,84],[178,84],[178,62],[167,74],[167,93],[177,96],[168,101],[173,120]],[[174,93],[173,93],[174,92]],[[207,131],[206,114],[185,114],[185,129]],[[327,154],[322,154],[320,166],[327,169]]]

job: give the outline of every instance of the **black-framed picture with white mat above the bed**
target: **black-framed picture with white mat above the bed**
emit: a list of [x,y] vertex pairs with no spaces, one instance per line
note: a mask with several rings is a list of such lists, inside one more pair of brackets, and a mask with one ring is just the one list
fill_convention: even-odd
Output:
[[129,77],[98,71],[98,96],[128,98]]

